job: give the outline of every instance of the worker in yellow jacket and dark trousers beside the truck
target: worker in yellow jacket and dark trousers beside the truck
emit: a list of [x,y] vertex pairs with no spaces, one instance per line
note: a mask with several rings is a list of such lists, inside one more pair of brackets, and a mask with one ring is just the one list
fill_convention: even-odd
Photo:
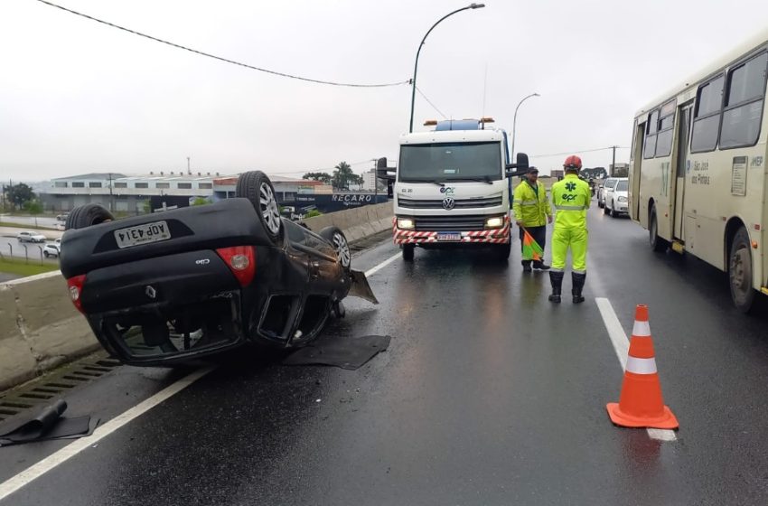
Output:
[[[512,211],[515,213],[515,222],[520,227],[520,248],[523,247],[523,228],[525,228],[533,240],[539,243],[543,255],[544,246],[547,244],[547,224],[552,222],[552,208],[549,206],[547,189],[543,184],[538,183],[538,180],[539,169],[530,167],[522,183],[515,188]],[[533,270],[530,268],[531,262],[535,269],[549,268],[542,257],[540,260],[523,260],[523,272]]]

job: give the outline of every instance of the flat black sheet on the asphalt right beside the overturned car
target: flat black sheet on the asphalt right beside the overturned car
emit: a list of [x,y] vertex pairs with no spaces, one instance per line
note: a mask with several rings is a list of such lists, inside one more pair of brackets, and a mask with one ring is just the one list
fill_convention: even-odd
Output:
[[389,335],[366,335],[356,338],[333,338],[314,342],[294,351],[284,365],[330,365],[356,370],[389,347]]

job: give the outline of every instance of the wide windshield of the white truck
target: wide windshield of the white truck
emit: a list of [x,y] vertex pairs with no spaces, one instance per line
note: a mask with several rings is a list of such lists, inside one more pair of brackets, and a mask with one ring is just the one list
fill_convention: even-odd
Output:
[[499,142],[401,145],[398,180],[403,183],[501,180]]

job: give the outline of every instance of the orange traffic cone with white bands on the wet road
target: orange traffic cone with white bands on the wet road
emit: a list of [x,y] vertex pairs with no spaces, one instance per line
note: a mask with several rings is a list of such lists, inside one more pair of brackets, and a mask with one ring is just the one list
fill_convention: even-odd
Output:
[[648,306],[635,310],[629,357],[624,371],[619,403],[607,405],[608,416],[617,426],[678,428],[678,419],[661,398],[661,384],[653,357]]

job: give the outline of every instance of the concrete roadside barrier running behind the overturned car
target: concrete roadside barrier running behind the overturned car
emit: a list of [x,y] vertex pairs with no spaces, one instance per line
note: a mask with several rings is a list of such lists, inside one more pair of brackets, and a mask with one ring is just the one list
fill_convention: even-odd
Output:
[[[392,204],[381,203],[304,220],[310,230],[334,225],[350,241],[392,227]],[[61,272],[0,284],[0,390],[99,348],[67,293]]]

